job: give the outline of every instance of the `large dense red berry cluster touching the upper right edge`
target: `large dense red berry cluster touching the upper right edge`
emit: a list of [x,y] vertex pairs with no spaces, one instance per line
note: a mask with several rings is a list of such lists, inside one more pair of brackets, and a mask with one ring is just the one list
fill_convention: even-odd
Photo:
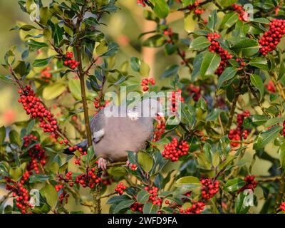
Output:
[[269,31],[266,31],[259,44],[261,48],[259,51],[265,56],[266,53],[273,51],[278,43],[280,43],[282,36],[285,34],[285,20],[274,19],[269,23]]

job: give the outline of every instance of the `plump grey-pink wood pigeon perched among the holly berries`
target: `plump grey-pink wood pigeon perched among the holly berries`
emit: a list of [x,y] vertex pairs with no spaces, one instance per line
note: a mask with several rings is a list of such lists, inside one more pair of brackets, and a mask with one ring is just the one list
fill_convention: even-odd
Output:
[[[106,170],[107,161],[128,160],[127,151],[138,152],[153,135],[153,122],[157,115],[163,117],[162,105],[155,99],[131,105],[109,104],[90,121],[92,144],[99,157],[98,167]],[[87,140],[78,144],[87,148]],[[68,152],[68,148],[64,150]]]

